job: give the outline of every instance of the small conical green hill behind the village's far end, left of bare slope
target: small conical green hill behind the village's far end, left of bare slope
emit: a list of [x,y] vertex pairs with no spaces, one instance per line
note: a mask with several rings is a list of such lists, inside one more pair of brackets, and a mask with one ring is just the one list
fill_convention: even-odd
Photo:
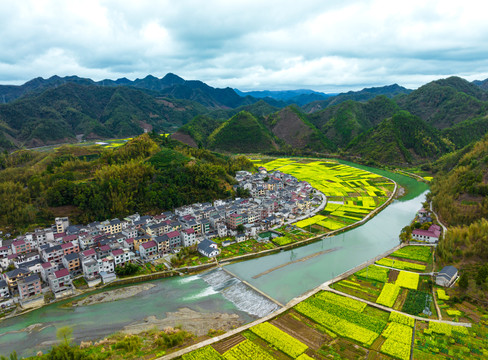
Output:
[[217,128],[208,138],[208,147],[232,153],[277,149],[272,134],[247,111],[241,111]]

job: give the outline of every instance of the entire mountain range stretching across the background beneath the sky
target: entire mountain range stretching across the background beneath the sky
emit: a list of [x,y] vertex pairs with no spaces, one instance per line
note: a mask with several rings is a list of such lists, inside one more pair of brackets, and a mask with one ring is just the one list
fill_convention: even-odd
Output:
[[413,91],[393,84],[331,95],[245,93],[174,74],[133,81],[36,78],[0,86],[0,147],[155,130],[230,153],[335,152],[382,163],[426,162],[488,130],[487,83],[450,77]]

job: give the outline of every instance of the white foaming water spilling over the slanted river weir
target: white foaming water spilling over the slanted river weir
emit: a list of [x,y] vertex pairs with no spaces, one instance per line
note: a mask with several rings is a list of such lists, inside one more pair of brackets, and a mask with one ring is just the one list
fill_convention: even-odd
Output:
[[210,270],[199,276],[214,291],[220,292],[239,310],[245,311],[250,315],[263,317],[279,309],[279,306],[273,301],[221,268]]

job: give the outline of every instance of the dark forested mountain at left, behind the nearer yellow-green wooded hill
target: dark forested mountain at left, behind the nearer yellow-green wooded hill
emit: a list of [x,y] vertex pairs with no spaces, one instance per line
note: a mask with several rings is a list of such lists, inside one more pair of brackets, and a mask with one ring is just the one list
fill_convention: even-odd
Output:
[[206,112],[185,100],[155,97],[129,87],[67,83],[0,106],[4,139],[38,146],[73,139],[126,137],[144,130],[170,131]]

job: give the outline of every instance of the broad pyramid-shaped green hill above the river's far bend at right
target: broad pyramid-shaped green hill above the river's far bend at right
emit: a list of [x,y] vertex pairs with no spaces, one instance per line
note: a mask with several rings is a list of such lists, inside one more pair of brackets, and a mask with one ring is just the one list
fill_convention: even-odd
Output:
[[380,163],[408,164],[437,158],[450,148],[438,130],[401,111],[359,135],[346,151]]

